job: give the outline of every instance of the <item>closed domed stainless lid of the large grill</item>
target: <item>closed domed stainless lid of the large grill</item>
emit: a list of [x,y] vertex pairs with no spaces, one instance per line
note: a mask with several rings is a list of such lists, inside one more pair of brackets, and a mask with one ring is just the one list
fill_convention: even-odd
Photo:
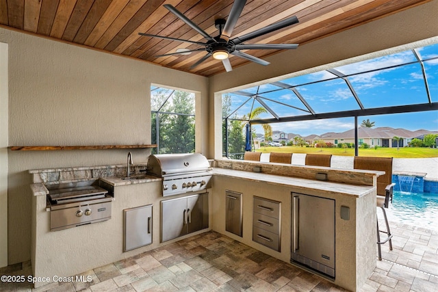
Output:
[[148,172],[159,177],[208,170],[211,170],[209,162],[201,153],[159,154],[148,159]]

